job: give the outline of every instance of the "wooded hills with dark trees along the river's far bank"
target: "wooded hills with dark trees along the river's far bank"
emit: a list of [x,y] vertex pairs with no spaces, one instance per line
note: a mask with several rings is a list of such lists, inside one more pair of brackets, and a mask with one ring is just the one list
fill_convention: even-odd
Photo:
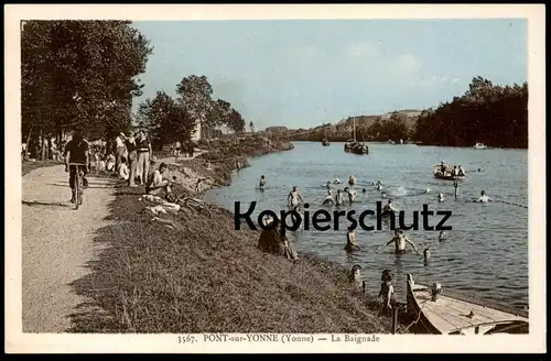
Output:
[[382,116],[350,117],[336,124],[311,129],[270,127],[268,133],[291,141],[415,143],[419,145],[528,149],[528,83],[495,85],[473,78],[468,89],[452,101],[425,110],[400,110]]

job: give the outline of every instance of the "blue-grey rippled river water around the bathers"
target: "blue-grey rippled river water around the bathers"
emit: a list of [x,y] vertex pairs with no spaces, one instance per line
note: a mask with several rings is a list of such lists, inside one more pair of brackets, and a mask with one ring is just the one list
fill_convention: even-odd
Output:
[[[380,231],[357,228],[361,251],[347,255],[346,228],[349,221],[341,217],[339,230],[327,231],[299,229],[288,232],[300,251],[352,266],[360,264],[370,293],[378,293],[380,273],[390,269],[396,274],[395,285],[399,299],[406,299],[406,274],[412,273],[422,283],[440,282],[445,287],[466,291],[482,297],[516,306],[528,305],[528,209],[503,203],[476,204],[480,190],[495,200],[528,205],[528,152],[526,150],[473,150],[417,145],[369,144],[370,154],[345,153],[343,143],[322,146],[318,143],[295,142],[294,150],[251,158],[250,167],[234,173],[229,187],[209,190],[206,198],[214,204],[234,210],[235,201],[241,203],[241,212],[251,201],[257,201],[253,216],[264,209],[279,214],[287,209],[287,196],[293,185],[310,204],[310,215],[317,209],[356,210],[355,218],[364,210],[376,210],[380,192],[372,182],[380,179],[383,189],[395,198],[396,208],[404,210],[406,223],[410,225],[413,211],[421,211],[423,204],[431,210],[451,210],[446,225],[452,226],[449,238],[439,242],[437,231],[424,231],[419,215],[420,230],[409,230],[410,239],[422,252],[429,248],[432,259],[428,265],[413,251],[397,256],[392,247],[376,248],[392,237],[389,226]],[[467,172],[457,200],[453,183],[432,176],[432,165],[445,161],[461,164]],[[480,168],[480,172],[477,169]],[[260,175],[267,178],[267,188],[258,190]],[[326,194],[322,186],[339,178],[344,188],[348,175],[358,180],[358,203],[341,207],[323,207]],[[367,189],[367,194],[361,193]],[[431,188],[430,194],[420,195]],[[444,203],[437,203],[439,192],[446,194]],[[435,226],[442,216],[433,216]],[[398,221],[398,220],[397,220]],[[368,226],[376,226],[375,218],[366,218]],[[333,225],[333,221],[331,222]]]

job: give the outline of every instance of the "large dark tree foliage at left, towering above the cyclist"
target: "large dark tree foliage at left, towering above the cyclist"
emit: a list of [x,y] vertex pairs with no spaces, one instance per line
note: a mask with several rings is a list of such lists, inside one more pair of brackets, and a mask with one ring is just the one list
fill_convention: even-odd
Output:
[[131,123],[132,97],[152,53],[130,21],[28,21],[21,34],[22,133],[89,138]]

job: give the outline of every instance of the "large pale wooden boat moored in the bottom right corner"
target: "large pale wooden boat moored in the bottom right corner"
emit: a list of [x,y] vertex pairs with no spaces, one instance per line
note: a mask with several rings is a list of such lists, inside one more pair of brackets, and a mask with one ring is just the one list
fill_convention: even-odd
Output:
[[415,283],[408,274],[408,313],[429,333],[528,333],[528,311],[494,302]]

